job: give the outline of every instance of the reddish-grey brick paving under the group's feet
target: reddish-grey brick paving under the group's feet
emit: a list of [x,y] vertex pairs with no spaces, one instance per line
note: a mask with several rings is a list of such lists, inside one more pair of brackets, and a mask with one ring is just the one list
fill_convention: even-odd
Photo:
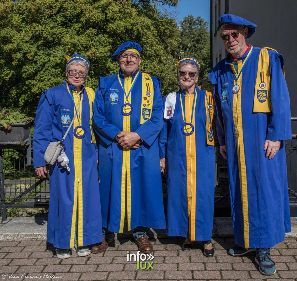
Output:
[[[287,280],[297,281],[297,240],[286,238],[271,249],[277,273],[263,276],[257,271],[255,254],[230,257],[226,249],[234,245],[231,238],[214,239],[215,257],[206,258],[197,244],[195,250],[183,252],[184,238],[160,239],[154,244],[154,269],[137,269],[127,261],[127,251],[136,253],[130,240],[116,242],[105,253],[60,260],[46,241],[0,241],[0,280]],[[26,278],[25,278],[26,277]]]

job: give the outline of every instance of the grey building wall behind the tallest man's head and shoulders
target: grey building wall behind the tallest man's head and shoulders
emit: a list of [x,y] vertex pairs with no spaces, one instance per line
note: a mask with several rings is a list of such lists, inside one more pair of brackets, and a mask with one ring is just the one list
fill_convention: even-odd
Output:
[[[214,18],[214,2],[215,0],[212,0],[212,19]],[[256,32],[247,39],[248,44],[254,47],[271,47],[284,56],[291,116],[297,116],[297,0],[229,0],[228,2],[229,14],[244,17],[257,24]],[[224,4],[225,1],[222,1],[222,6]],[[222,14],[224,12],[225,9],[222,9]],[[213,23],[212,26],[214,66],[215,56],[221,49],[222,42],[218,40],[219,34],[214,36],[217,23]],[[297,124],[294,123],[296,122],[292,122],[292,133],[296,134]]]

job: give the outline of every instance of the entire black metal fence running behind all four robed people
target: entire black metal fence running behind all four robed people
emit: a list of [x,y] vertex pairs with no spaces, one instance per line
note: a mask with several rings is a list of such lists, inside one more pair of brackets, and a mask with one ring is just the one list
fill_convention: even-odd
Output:
[[[292,117],[292,121],[297,121],[297,117]],[[292,135],[291,140],[286,140],[285,149],[291,216],[297,216],[296,135]],[[217,163],[215,216],[229,216],[227,163],[219,153],[219,146],[215,147],[215,156]],[[163,197],[166,205],[165,184],[163,185]],[[36,211],[34,208],[48,207],[50,200],[49,179],[40,179],[35,174],[31,141],[21,148],[14,145],[0,145],[0,198],[2,221],[6,220],[7,208],[18,208],[19,211],[26,208],[27,211]]]

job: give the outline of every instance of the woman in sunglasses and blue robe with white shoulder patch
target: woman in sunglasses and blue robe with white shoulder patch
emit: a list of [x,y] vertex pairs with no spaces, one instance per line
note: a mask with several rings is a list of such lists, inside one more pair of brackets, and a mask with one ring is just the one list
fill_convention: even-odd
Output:
[[195,58],[176,63],[178,92],[163,98],[164,127],[159,137],[161,172],[167,175],[167,234],[187,237],[182,250],[203,241],[204,255],[214,249],[214,100],[195,86],[200,64]]

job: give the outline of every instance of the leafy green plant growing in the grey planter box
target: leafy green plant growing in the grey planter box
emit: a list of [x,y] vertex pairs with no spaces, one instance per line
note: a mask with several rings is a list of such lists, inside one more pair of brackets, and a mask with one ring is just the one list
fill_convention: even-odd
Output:
[[20,107],[17,109],[10,109],[3,107],[0,108],[0,127],[4,127],[7,130],[11,130],[11,124],[14,123],[29,123],[34,120],[33,117],[26,116],[21,113]]

